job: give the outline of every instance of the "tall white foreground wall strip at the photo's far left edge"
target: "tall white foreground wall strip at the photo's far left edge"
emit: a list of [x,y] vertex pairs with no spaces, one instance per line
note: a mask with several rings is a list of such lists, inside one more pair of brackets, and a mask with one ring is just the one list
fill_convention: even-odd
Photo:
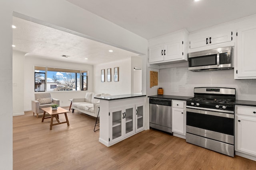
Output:
[[0,1],[0,167],[12,169],[12,8]]

